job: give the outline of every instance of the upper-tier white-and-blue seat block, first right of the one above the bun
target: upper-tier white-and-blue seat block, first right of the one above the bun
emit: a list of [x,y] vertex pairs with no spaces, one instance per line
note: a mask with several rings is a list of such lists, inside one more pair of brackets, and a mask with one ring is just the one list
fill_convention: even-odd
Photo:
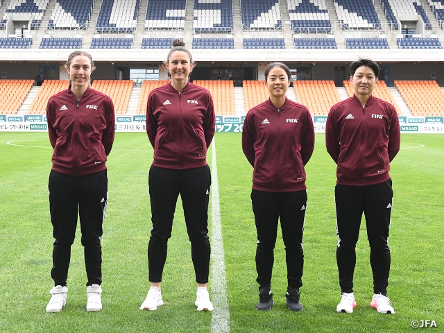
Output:
[[193,28],[196,32],[232,31],[232,0],[194,0]]

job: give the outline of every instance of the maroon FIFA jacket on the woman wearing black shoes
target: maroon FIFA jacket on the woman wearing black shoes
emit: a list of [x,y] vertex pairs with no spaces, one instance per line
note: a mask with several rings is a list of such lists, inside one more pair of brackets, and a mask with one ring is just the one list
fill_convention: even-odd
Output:
[[253,166],[253,189],[307,189],[305,164],[314,150],[314,127],[304,105],[285,99],[279,110],[270,99],[248,111],[242,149]]

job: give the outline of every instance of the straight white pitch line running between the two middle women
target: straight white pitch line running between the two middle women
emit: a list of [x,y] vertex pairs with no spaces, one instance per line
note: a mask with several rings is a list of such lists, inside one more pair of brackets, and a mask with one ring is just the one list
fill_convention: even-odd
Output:
[[230,332],[230,310],[228,309],[227,281],[225,278],[225,255],[221,227],[221,207],[219,205],[219,183],[217,180],[216,144],[212,143],[212,270],[211,293],[214,310],[211,318],[212,333]]

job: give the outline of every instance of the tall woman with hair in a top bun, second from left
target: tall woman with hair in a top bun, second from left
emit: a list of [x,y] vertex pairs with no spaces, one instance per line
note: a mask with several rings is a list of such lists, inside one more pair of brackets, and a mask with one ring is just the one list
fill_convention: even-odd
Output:
[[189,82],[194,65],[184,42],[174,40],[165,62],[171,82],[154,89],[148,96],[146,133],[154,148],[148,176],[153,228],[148,243],[151,287],[140,306],[143,310],[155,310],[164,304],[160,283],[179,194],[196,273],[197,299],[194,304],[199,311],[213,309],[207,291],[211,174],[206,157],[216,125],[210,92]]

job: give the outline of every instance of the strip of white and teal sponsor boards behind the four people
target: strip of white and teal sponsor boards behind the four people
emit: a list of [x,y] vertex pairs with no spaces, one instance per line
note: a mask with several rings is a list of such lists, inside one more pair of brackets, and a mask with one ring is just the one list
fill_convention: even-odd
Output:
[[[117,116],[116,130],[117,132],[146,132],[145,119],[146,116],[142,114]],[[244,119],[244,116],[216,116],[216,132],[240,133],[244,128]],[[325,133],[326,119],[326,116],[314,116],[316,133]],[[443,117],[400,117],[400,128],[401,133],[444,133],[444,119]],[[0,114],[1,132],[42,130],[48,130],[44,115],[9,116]]]

